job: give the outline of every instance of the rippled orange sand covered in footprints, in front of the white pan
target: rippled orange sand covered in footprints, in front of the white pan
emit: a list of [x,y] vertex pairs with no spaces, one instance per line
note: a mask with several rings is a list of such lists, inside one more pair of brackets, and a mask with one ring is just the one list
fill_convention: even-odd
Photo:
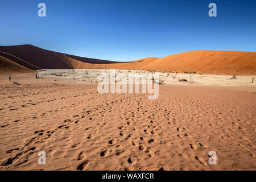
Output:
[[0,75],[1,170],[256,170],[255,85],[159,85],[148,100],[12,76],[20,85]]

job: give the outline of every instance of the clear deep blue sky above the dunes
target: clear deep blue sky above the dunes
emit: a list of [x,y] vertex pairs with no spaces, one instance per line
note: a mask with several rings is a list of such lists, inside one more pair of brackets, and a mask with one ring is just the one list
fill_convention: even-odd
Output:
[[[46,17],[38,3],[46,3]],[[208,5],[217,5],[217,17]],[[193,50],[256,51],[256,1],[0,1],[0,46],[114,61]]]

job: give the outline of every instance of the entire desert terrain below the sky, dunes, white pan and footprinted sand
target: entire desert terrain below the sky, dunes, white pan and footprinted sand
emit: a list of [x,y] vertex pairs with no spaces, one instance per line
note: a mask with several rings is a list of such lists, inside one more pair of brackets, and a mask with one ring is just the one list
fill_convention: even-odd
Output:
[[[99,93],[110,69],[159,74],[158,98]],[[0,46],[0,170],[255,170],[255,72],[255,52],[120,63]]]

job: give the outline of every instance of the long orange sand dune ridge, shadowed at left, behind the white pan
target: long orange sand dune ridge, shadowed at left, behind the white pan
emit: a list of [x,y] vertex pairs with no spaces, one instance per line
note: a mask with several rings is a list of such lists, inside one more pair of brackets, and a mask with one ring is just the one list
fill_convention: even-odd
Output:
[[147,57],[133,62],[115,62],[67,55],[32,45],[0,46],[0,51],[10,53],[42,69],[114,68],[223,75],[255,75],[256,72],[256,52],[190,51],[163,58]]

